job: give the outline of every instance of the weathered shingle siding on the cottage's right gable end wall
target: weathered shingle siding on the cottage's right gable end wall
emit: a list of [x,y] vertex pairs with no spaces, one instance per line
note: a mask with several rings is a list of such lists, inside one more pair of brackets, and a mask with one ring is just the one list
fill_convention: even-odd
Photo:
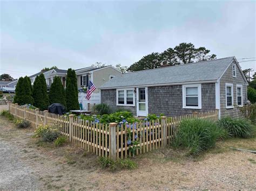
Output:
[[[235,62],[234,62],[235,63]],[[232,64],[228,67],[225,74],[220,79],[220,116],[231,116],[231,117],[241,117],[241,112],[237,105],[237,84],[242,85],[242,98],[243,104],[246,103],[247,100],[247,84],[242,77],[242,74],[237,65],[237,77],[233,77],[232,75]],[[234,108],[226,109],[226,83],[233,83],[233,99],[234,99]]]

